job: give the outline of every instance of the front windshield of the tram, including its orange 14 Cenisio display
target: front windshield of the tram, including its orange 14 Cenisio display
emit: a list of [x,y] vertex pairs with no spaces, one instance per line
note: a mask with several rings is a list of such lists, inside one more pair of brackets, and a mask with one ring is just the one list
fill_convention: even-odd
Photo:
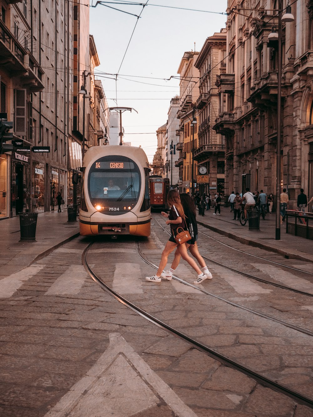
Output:
[[124,156],[104,156],[89,171],[91,200],[136,201],[140,193],[139,167]]

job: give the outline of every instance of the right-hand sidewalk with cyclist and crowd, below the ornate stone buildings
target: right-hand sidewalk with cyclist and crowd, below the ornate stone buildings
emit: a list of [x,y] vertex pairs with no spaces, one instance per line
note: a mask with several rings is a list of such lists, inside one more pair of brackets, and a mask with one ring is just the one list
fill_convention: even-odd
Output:
[[[243,244],[261,249],[275,251],[286,257],[313,262],[313,241],[292,234],[286,234],[286,223],[280,225],[280,240],[275,240],[276,215],[266,214],[260,218],[260,230],[249,230],[248,222],[241,226],[238,220],[232,220],[230,207],[221,207],[221,215],[213,216],[214,209],[197,214],[197,221],[204,227],[239,241]],[[313,269],[313,267],[312,267]]]

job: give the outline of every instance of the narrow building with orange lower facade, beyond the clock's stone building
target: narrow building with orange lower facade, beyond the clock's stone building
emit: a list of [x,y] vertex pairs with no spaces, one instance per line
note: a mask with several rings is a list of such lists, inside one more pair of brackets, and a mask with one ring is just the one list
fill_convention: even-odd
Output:
[[[194,159],[194,149],[198,146],[197,125],[192,124],[193,119],[198,122],[197,99],[199,98],[199,70],[194,66],[199,52],[187,51],[179,64],[177,73],[180,81],[180,105],[177,113],[179,118],[179,158],[175,166],[179,167],[179,192],[194,195],[197,184],[197,161]],[[192,186],[193,180],[193,186]]]

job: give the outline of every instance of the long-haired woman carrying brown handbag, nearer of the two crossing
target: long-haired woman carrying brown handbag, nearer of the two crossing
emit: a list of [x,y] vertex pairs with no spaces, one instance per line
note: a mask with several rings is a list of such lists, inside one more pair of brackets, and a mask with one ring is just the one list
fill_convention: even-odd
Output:
[[[204,278],[203,272],[199,269],[196,262],[188,255],[186,244],[178,245],[175,241],[175,235],[177,234],[177,228],[182,227],[186,230],[186,223],[185,219],[186,216],[184,214],[184,209],[182,207],[182,202],[179,198],[179,193],[176,190],[169,190],[167,194],[167,203],[170,206],[169,214],[165,213],[164,211],[161,212],[163,217],[167,218],[166,224],[169,224],[171,227],[171,236],[165,245],[165,248],[162,252],[161,261],[159,264],[159,269],[157,270],[156,274],[153,276],[146,276],[146,281],[150,282],[160,282],[161,281],[161,274],[164,272],[164,268],[167,264],[167,259],[169,254],[177,248],[179,250],[182,259],[188,262],[190,266],[197,272],[198,278]],[[164,276],[163,276],[164,278]],[[165,278],[166,279],[166,278]]]

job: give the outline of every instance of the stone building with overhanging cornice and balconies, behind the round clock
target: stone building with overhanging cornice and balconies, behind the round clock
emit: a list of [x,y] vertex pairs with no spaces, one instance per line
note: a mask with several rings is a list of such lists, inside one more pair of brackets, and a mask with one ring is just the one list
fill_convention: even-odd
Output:
[[223,116],[220,108],[224,106],[224,95],[219,95],[216,79],[225,78],[225,56],[226,30],[222,29],[206,39],[194,63],[200,75],[200,94],[196,103],[199,141],[194,150],[194,160],[201,166],[201,173],[208,176],[208,183],[198,185],[200,195],[225,193],[225,136],[213,130],[216,116]]

